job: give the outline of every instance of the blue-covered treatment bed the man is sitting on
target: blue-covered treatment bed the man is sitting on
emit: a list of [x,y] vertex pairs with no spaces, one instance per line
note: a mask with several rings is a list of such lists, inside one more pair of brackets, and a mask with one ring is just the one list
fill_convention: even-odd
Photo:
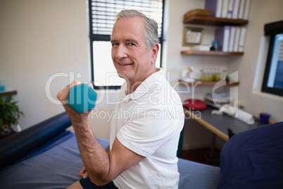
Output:
[[[97,138],[102,147],[109,141]],[[80,179],[82,159],[75,134],[65,131],[0,171],[0,188],[66,188]],[[179,159],[179,188],[216,188],[220,168]]]

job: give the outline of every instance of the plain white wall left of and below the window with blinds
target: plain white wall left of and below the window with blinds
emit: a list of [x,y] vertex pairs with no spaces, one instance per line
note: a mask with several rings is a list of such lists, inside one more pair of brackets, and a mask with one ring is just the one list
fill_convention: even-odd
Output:
[[[46,91],[50,88],[56,100],[70,80],[90,80],[86,1],[0,0],[0,25],[0,78],[7,90],[18,91],[15,99],[25,114],[21,128],[63,112]],[[50,80],[56,74],[61,76]],[[115,101],[118,91],[107,97]],[[108,111],[113,106],[106,106],[105,98],[96,108]],[[107,120],[92,117],[96,136],[109,138]]]

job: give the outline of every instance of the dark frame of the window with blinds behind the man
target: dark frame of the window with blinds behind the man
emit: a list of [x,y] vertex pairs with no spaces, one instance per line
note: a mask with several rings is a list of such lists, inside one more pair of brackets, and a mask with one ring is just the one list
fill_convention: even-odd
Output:
[[[91,68],[91,79],[92,79],[92,84],[94,85],[94,48],[93,48],[93,42],[110,42],[111,40],[111,35],[95,35],[93,34],[92,30],[92,0],[88,0],[88,5],[89,5],[89,51],[90,51],[90,68]],[[163,42],[165,41],[163,35],[164,35],[164,11],[165,11],[165,0],[162,1],[162,24],[161,24],[161,37],[159,37],[159,44],[161,44],[161,48],[159,49],[160,52],[160,60],[161,64],[160,67],[162,68],[162,61],[163,61]],[[103,85],[103,86],[97,86],[94,85],[95,90],[119,90],[121,85]]]

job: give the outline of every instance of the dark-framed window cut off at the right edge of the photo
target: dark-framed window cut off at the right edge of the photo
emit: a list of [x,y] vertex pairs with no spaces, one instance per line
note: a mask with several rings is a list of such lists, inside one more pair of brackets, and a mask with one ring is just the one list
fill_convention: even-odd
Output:
[[261,91],[283,97],[283,21],[266,24],[265,35],[270,46]]

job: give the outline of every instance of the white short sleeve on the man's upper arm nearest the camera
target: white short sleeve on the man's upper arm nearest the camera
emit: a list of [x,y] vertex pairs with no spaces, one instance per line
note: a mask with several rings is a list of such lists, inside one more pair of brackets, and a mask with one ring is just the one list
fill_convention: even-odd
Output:
[[166,109],[150,109],[138,112],[120,128],[117,138],[128,149],[148,157],[158,147],[175,135],[179,135],[184,117],[173,117]]

